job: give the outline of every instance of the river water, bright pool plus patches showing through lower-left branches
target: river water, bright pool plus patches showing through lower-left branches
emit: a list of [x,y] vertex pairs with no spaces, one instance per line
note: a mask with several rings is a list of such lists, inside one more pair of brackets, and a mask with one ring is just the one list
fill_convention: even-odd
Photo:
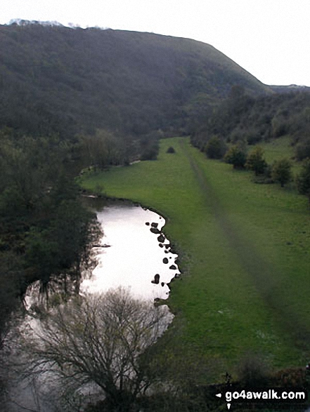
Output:
[[[179,277],[180,272],[175,263],[177,255],[172,253],[169,240],[162,233],[164,218],[127,202],[110,202],[104,207],[98,199],[89,199],[88,203],[96,211],[103,237],[93,247],[98,264],[92,274],[82,280],[80,293],[98,293],[122,286],[136,298],[167,299],[168,284]],[[26,297],[28,306],[39,301],[38,290],[38,286],[30,288]],[[170,314],[171,320],[172,317]],[[56,411],[46,401],[46,392],[49,392],[46,385],[40,390],[34,389],[25,382],[12,385],[13,402],[9,402],[5,410]]]

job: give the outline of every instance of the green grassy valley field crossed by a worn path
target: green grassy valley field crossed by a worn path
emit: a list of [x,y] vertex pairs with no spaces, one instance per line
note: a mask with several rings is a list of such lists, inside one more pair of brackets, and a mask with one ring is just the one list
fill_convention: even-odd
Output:
[[[171,145],[175,154],[166,153]],[[275,368],[309,361],[306,197],[254,184],[252,173],[206,159],[184,138],[162,140],[157,161],[82,181],[89,190],[99,185],[111,197],[138,201],[167,218],[164,232],[183,275],[171,285],[176,317],[163,341],[180,359],[205,357],[219,380],[249,352]]]

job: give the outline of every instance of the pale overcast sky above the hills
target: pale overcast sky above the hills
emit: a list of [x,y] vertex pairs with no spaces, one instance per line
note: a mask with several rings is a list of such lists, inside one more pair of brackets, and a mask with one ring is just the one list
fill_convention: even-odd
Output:
[[310,0],[4,0],[0,24],[14,18],[188,37],[265,84],[310,86]]

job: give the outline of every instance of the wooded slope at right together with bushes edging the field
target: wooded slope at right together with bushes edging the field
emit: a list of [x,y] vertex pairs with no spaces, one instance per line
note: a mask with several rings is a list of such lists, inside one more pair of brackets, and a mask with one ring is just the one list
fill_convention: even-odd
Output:
[[[210,159],[224,159],[233,168],[254,171],[259,182],[280,182],[283,187],[292,180],[291,159],[267,164],[259,142],[290,135],[295,159],[303,161],[297,190],[310,196],[309,105],[309,91],[254,98],[233,86],[228,98],[195,129],[191,142]],[[258,146],[250,150],[251,145]]]

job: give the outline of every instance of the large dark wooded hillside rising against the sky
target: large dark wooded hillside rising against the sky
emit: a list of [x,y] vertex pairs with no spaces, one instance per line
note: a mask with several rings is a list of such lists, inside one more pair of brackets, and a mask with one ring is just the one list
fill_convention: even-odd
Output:
[[0,25],[0,127],[72,136],[180,130],[231,86],[267,86],[208,44],[158,34]]

